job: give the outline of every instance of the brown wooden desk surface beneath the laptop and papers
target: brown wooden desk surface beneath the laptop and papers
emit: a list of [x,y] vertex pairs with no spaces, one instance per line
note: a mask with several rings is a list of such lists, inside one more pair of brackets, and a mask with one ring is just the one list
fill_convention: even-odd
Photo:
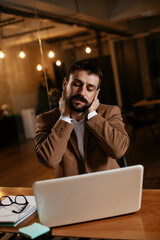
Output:
[[[0,196],[7,194],[32,195],[30,188],[0,188]],[[38,222],[33,215],[28,222],[19,225]],[[16,232],[17,228],[0,227],[0,231]],[[109,238],[109,239],[148,239],[160,240],[160,190],[143,190],[142,207],[137,213],[103,219],[98,221],[52,228],[52,235]]]

